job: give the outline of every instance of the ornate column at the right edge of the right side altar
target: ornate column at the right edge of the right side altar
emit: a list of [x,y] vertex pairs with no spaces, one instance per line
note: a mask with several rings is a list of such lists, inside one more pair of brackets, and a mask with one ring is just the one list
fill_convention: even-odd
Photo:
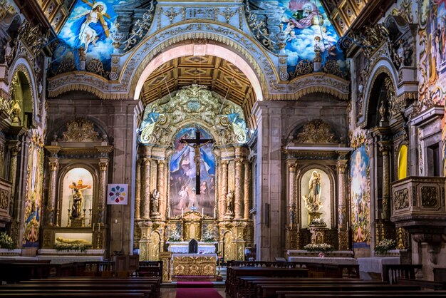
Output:
[[348,250],[347,205],[346,205],[346,168],[347,160],[336,163],[338,170],[338,245],[339,250]]

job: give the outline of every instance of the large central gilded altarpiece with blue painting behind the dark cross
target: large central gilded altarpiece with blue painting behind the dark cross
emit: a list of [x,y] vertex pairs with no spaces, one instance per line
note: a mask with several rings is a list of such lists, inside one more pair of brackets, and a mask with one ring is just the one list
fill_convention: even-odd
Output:
[[[197,130],[214,142],[199,148],[180,143]],[[145,107],[135,192],[140,260],[159,260],[159,252],[192,239],[198,247],[215,245],[225,260],[244,260],[253,241],[247,139],[242,108],[205,86],[184,87]]]

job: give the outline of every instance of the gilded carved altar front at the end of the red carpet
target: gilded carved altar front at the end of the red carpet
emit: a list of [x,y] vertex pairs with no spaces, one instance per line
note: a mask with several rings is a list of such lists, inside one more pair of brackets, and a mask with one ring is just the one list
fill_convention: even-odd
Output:
[[172,254],[172,277],[215,276],[217,254]]

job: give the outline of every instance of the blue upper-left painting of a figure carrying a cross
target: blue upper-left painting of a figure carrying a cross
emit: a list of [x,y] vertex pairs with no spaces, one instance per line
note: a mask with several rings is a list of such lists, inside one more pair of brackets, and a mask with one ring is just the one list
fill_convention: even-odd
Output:
[[[58,48],[54,55],[53,71],[61,61],[73,61],[76,69],[81,68],[81,60],[95,59],[103,65],[103,72],[110,71],[110,54],[113,53],[113,41],[110,32],[115,30],[117,15],[113,10],[115,0],[78,0],[70,17],[58,35],[65,41],[67,48]],[[120,1],[123,2],[123,1]],[[100,67],[99,67],[100,68]],[[100,71],[100,69],[96,69]],[[66,70],[64,70],[66,71]]]

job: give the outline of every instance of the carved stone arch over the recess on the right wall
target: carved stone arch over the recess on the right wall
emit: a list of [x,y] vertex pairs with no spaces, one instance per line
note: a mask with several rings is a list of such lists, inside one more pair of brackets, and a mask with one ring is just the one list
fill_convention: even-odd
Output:
[[365,104],[363,105],[362,128],[368,126],[370,120],[368,112],[370,111],[370,101],[373,100],[373,98],[371,98],[373,87],[375,87],[377,80],[380,81],[383,79],[383,73],[385,73],[385,75],[387,75],[393,81],[395,91],[397,90],[395,82],[398,82],[398,72],[393,66],[392,61],[390,61],[388,57],[384,57],[376,61],[372,67],[372,71],[370,71],[369,78],[371,79],[368,80],[368,84],[365,86]]

